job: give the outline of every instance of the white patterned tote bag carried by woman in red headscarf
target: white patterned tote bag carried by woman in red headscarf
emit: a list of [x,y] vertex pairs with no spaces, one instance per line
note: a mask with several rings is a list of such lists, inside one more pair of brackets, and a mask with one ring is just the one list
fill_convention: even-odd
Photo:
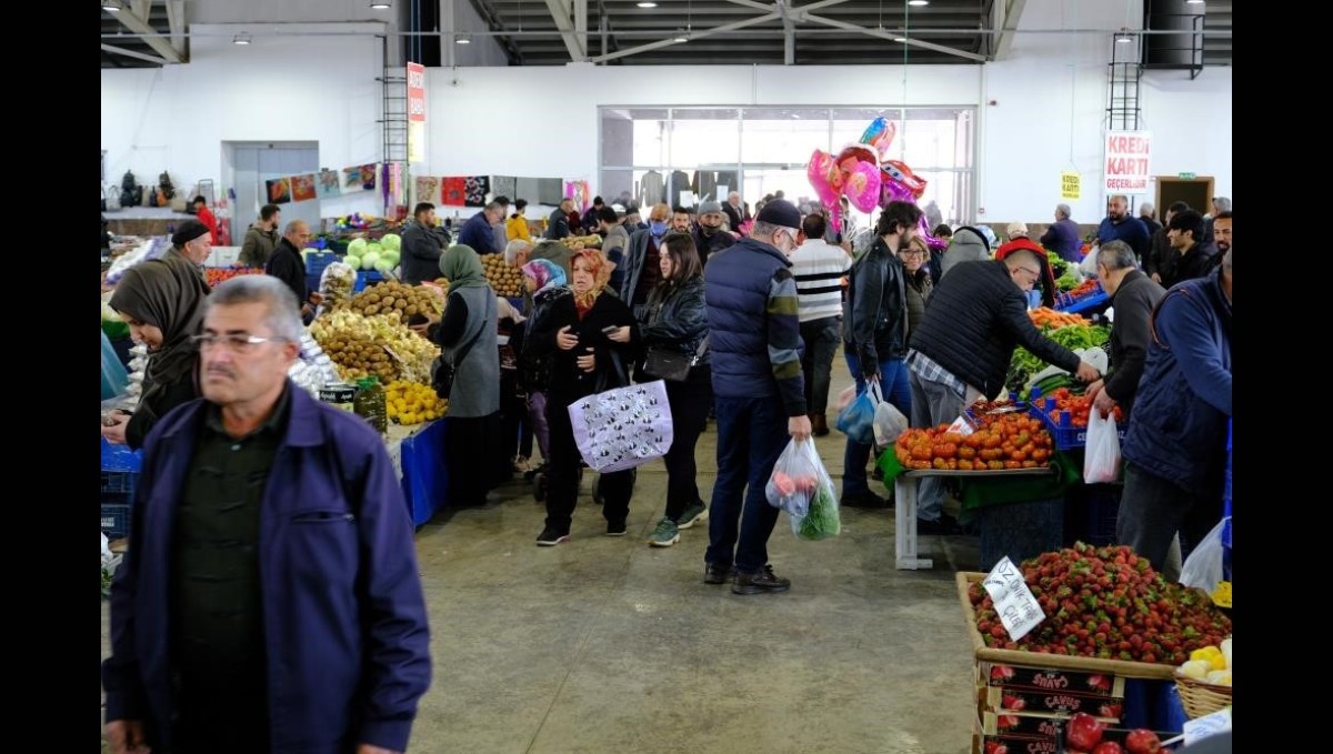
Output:
[[666,382],[612,388],[569,404],[575,442],[597,473],[623,472],[661,458],[673,440]]

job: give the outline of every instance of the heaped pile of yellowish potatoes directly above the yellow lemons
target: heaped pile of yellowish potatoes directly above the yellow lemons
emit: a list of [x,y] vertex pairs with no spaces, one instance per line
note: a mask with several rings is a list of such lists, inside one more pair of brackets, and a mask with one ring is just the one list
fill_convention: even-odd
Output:
[[311,324],[311,334],[345,382],[369,374],[383,384],[399,378],[429,382],[431,364],[440,356],[437,345],[409,330],[397,314],[329,312]]

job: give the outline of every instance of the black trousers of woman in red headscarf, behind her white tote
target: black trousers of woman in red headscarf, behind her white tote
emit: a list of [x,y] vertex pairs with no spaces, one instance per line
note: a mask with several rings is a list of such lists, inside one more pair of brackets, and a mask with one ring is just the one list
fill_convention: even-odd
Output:
[[[579,469],[583,456],[575,444],[573,425],[569,422],[569,404],[580,396],[547,396],[547,424],[551,426],[551,464],[547,486],[547,526],[569,532],[573,521],[575,504],[579,502]],[[601,489],[601,514],[607,521],[624,521],[629,517],[629,497],[635,492],[633,469],[603,474],[597,484]]]

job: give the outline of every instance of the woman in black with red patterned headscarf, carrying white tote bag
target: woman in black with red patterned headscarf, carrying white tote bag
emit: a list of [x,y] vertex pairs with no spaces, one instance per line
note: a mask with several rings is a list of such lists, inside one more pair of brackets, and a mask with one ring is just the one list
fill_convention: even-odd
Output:
[[[559,545],[569,538],[579,498],[581,457],[569,421],[569,404],[628,385],[627,370],[635,364],[639,344],[639,325],[629,308],[605,289],[611,273],[601,252],[577,250],[571,256],[571,266],[573,296],[556,297],[549,314],[541,317],[528,336],[528,349],[533,356],[552,356],[547,398],[551,482],[547,525],[537,537],[537,545],[543,546]],[[599,480],[608,537],[625,534],[633,486],[633,469],[603,474]]]

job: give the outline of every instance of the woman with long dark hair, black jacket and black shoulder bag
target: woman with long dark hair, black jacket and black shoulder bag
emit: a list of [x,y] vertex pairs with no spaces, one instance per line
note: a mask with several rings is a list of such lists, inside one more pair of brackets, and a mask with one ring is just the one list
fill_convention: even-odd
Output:
[[[644,346],[694,358],[682,381],[666,380],[666,402],[670,405],[673,440],[666,452],[666,513],[648,537],[655,548],[669,548],[680,541],[680,530],[708,521],[708,508],[698,497],[694,477],[694,444],[708,424],[713,405],[713,377],[708,350],[700,345],[708,337],[708,312],[704,309],[704,264],[698,248],[686,233],[672,233],[663,240],[659,258],[661,282],[648,294],[644,309]],[[651,364],[641,370],[644,380],[661,380]]]

